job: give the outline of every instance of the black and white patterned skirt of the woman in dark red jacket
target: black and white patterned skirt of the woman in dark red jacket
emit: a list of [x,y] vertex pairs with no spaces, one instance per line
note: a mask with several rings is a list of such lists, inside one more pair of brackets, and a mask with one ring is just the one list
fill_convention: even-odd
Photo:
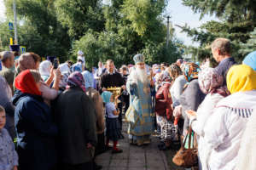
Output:
[[157,124],[160,126],[161,134],[160,139],[162,141],[175,140],[177,138],[177,127],[170,120],[167,120],[166,116],[156,116]]

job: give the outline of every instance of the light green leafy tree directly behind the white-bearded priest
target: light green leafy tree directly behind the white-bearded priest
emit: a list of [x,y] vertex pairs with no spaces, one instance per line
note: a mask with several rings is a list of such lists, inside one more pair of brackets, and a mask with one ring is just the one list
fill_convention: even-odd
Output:
[[105,31],[90,30],[74,42],[73,54],[81,49],[87,66],[113,59],[115,65],[132,63],[135,54],[146,56],[148,64],[173,62],[181,53],[177,43],[166,49],[166,26],[160,16],[166,1],[118,0],[103,7]]

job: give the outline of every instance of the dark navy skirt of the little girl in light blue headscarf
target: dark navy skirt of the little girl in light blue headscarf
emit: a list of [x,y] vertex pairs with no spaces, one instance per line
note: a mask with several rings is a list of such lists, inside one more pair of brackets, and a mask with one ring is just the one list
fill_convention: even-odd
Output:
[[121,137],[121,127],[118,118],[106,119],[106,137],[112,141],[118,141]]

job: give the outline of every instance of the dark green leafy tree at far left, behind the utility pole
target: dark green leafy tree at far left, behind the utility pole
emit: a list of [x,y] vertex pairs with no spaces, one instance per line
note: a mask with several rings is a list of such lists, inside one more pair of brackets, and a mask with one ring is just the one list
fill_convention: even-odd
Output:
[[[5,0],[8,19],[13,18],[12,0]],[[19,43],[40,56],[67,59],[71,47],[67,29],[58,22],[52,0],[17,0]]]

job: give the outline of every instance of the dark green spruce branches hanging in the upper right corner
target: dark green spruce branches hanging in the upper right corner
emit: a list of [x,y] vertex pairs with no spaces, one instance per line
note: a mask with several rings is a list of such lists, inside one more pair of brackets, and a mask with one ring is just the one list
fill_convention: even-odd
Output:
[[211,56],[210,44],[217,37],[225,37],[232,42],[232,56],[236,61],[241,61],[244,54],[250,51],[246,47],[252,47],[252,41],[248,41],[250,33],[256,26],[256,5],[253,0],[183,0],[183,4],[192,8],[195,13],[215,14],[220,21],[208,21],[198,29],[189,26],[180,26],[184,32],[199,42],[198,48],[188,47],[187,53],[197,59],[205,59]]

